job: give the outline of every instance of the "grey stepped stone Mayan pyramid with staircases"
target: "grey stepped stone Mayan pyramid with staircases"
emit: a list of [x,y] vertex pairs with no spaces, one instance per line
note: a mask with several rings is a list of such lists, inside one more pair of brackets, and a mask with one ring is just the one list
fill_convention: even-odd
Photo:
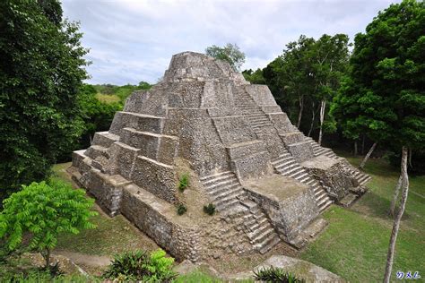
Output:
[[110,216],[192,262],[300,248],[325,227],[322,211],[350,204],[369,180],[299,132],[267,86],[193,52],[173,56],[152,90],[135,91],[108,132],[74,151],[70,170]]

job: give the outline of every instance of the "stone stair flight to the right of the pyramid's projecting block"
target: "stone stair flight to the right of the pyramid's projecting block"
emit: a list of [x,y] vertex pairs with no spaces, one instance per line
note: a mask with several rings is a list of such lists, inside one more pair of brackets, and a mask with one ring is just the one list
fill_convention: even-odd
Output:
[[311,177],[307,170],[299,165],[297,160],[295,160],[291,153],[286,151],[278,158],[272,160],[274,169],[281,174],[282,176],[289,176],[296,179],[297,181],[307,184],[313,187],[313,192],[315,193],[315,199],[317,206],[320,212],[324,211],[332,201],[325,192],[325,189],[321,184],[317,182],[313,177]]

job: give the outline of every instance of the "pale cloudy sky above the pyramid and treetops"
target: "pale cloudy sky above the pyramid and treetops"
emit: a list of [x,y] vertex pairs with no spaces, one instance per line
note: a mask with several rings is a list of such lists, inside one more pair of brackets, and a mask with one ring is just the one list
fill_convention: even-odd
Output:
[[263,68],[305,34],[318,38],[365,30],[390,0],[63,0],[80,21],[91,83],[156,82],[173,54],[236,43],[243,69]]

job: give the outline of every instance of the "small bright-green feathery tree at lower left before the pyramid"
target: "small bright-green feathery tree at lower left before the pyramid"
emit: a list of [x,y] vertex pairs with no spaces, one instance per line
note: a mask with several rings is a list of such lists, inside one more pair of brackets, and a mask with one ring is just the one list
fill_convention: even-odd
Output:
[[30,233],[30,248],[39,251],[50,267],[50,252],[56,246],[60,233],[78,234],[81,229],[94,228],[89,219],[93,199],[83,190],[56,182],[22,185],[22,190],[4,200],[0,212],[0,238],[5,238],[10,250]]

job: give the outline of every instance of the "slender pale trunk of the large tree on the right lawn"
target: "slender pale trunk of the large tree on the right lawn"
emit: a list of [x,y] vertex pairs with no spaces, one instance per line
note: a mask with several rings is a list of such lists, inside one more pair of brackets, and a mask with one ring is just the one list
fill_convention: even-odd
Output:
[[391,231],[390,243],[388,247],[388,254],[386,256],[386,273],[384,275],[384,283],[389,283],[391,278],[391,270],[393,269],[394,253],[395,253],[395,241],[397,240],[398,229],[400,227],[400,221],[403,217],[403,212],[406,207],[407,194],[409,193],[409,176],[407,175],[407,148],[403,146],[402,153],[402,184],[403,193],[402,201],[400,203],[400,210],[394,219],[393,231]]

